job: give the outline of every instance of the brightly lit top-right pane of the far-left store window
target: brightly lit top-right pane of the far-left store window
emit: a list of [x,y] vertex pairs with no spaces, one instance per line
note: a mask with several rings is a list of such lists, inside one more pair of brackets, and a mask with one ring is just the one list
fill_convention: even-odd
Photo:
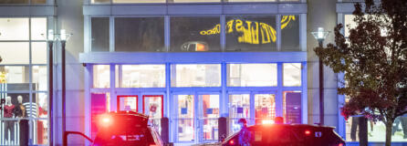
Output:
[[[45,2],[45,0],[43,1]],[[33,0],[31,0],[31,2],[33,2]],[[45,40],[46,37],[42,36],[41,34],[47,35],[47,18],[46,17],[31,18],[31,39]]]

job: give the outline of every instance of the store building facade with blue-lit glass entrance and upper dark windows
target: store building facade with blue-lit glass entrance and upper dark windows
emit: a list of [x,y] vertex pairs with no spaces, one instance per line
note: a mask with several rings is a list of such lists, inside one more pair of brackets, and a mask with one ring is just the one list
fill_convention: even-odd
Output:
[[[352,11],[353,1],[341,0],[0,2],[1,98],[15,108],[21,99],[27,111],[25,116],[11,112],[11,117],[2,111],[0,145],[21,140],[61,144],[64,114],[67,130],[93,138],[95,116],[117,110],[143,112],[158,130],[160,120],[168,118],[169,141],[176,144],[218,141],[221,117],[227,119],[228,133],[238,130],[240,118],[249,124],[276,117],[318,123],[319,70],[313,51],[318,43],[310,32],[318,27],[332,31],[339,23],[352,26]],[[61,29],[73,34],[66,46],[65,112]],[[48,30],[56,36],[52,63]],[[333,35],[325,42],[333,42]],[[49,64],[53,90],[48,89]],[[337,92],[341,75],[322,71],[324,124],[357,145],[358,118],[345,121],[339,113],[346,101]],[[371,122],[369,141],[384,141],[383,128]],[[405,141],[402,131],[393,141]],[[68,142],[89,144],[76,136]]]

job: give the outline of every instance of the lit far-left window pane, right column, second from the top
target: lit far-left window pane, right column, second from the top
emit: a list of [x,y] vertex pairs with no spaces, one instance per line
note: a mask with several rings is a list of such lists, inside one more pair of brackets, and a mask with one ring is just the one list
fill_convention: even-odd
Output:
[[47,64],[47,42],[31,43],[32,64]]

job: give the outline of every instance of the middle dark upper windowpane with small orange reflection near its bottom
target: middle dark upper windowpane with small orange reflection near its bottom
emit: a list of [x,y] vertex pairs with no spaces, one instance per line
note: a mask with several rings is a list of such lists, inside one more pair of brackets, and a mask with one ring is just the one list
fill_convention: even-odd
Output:
[[220,51],[219,17],[172,17],[171,51]]

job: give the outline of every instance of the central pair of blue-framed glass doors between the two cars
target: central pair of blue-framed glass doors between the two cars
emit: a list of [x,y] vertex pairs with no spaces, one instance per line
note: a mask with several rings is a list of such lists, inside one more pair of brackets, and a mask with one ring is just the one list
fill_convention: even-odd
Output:
[[220,95],[193,93],[174,95],[175,141],[198,143],[218,140]]

